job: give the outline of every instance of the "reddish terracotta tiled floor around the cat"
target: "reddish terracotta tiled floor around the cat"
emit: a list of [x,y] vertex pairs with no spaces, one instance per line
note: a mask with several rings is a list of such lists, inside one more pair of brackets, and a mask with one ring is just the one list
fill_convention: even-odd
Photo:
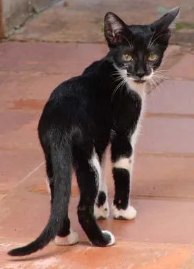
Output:
[[[38,21],[32,20],[43,27]],[[52,41],[57,39],[53,36]],[[106,52],[106,45],[97,43],[0,43],[0,268],[194,268],[194,49],[178,45],[169,47],[162,67],[169,80],[148,96],[132,186],[131,203],[138,217],[99,221],[101,228],[114,233],[116,245],[88,244],[76,217],[74,177],[69,211],[80,243],[59,247],[51,242],[18,259],[6,255],[39,235],[50,212],[36,131],[43,105],[58,83],[80,74]],[[110,163],[107,182],[111,203]]]

